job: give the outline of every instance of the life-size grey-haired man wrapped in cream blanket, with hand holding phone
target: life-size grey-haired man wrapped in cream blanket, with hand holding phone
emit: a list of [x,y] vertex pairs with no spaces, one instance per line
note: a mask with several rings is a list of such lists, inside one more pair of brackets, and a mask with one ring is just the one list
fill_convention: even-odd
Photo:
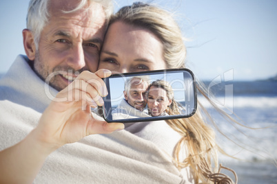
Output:
[[30,1],[27,56],[0,80],[0,183],[181,183],[154,143],[90,113],[107,95],[111,72],[96,68],[110,4]]

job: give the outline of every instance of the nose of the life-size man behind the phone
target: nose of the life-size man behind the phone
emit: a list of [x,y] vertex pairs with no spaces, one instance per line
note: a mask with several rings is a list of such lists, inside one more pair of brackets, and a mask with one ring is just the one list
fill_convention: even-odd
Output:
[[85,67],[85,56],[83,54],[83,45],[74,45],[70,49],[70,56],[68,58],[68,65],[73,69],[82,69]]

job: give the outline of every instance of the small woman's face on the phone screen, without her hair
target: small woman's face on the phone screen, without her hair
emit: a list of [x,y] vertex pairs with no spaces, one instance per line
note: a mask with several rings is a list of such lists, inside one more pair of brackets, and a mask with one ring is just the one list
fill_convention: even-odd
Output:
[[158,87],[150,87],[147,95],[148,111],[152,116],[158,116],[163,113],[167,106],[170,106],[172,100],[169,100],[164,89]]

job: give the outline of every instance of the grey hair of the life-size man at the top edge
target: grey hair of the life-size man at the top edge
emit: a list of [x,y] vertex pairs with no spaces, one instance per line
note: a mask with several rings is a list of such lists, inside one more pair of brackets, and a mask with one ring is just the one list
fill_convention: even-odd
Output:
[[[105,12],[105,19],[108,21],[114,11],[112,0],[81,0],[79,5],[74,10],[63,11],[64,13],[75,12],[83,8],[88,2],[95,2],[102,5]],[[39,49],[39,39],[43,27],[49,20],[49,3],[50,0],[30,0],[28,14],[27,14],[27,28],[34,34],[34,44],[36,49]]]

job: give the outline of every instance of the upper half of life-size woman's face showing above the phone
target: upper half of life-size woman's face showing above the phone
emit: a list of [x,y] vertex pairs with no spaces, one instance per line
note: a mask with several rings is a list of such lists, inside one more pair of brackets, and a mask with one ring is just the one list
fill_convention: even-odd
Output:
[[149,30],[121,21],[112,23],[101,50],[99,69],[112,73],[166,69],[163,44]]

